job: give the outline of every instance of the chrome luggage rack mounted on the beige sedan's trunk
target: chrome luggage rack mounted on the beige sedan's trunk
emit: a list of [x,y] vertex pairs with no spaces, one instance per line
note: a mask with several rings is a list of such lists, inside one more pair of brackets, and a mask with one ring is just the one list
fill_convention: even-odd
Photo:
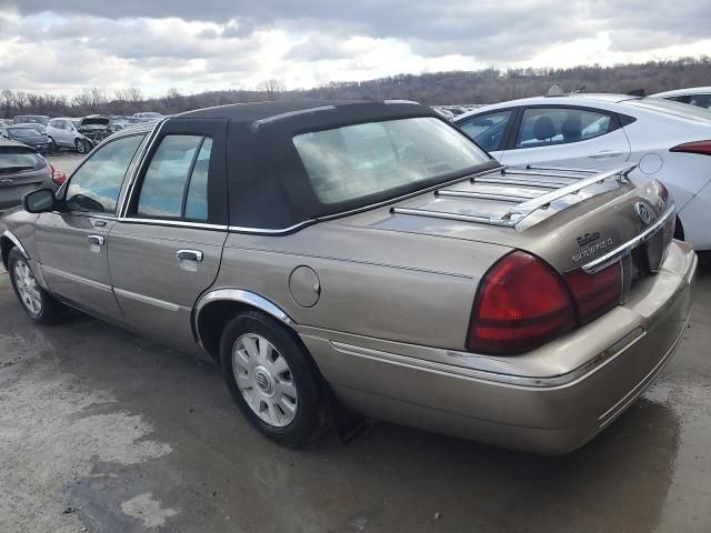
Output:
[[[463,214],[452,213],[444,211],[432,211],[428,209],[417,208],[392,208],[393,213],[411,214],[415,217],[431,217],[435,219],[458,220],[462,222],[479,222],[490,225],[501,225],[508,228],[514,228],[523,219],[533,213],[534,211],[549,207],[555,200],[560,200],[569,194],[578,194],[582,189],[594,185],[595,183],[602,183],[604,180],[614,178],[619,184],[624,181],[630,181],[629,173],[637,168],[635,163],[623,164],[614,169],[598,172],[595,170],[584,169],[563,169],[557,167],[532,167],[527,165],[523,168],[514,167],[500,167],[493,171],[483,172],[481,174],[470,178],[471,183],[491,183],[491,184],[505,184],[505,185],[521,185],[533,188],[554,189],[553,191],[542,194],[522,195],[491,193],[491,192],[474,192],[474,191],[450,191],[445,189],[439,189],[434,191],[438,197],[457,197],[457,198],[472,198],[480,200],[498,200],[503,202],[512,202],[512,205],[507,213],[500,218],[492,218],[483,214]],[[492,172],[500,172],[501,178],[492,178]],[[509,174],[515,175],[540,175],[547,178],[564,178],[570,181],[535,181],[527,179],[510,178]]]

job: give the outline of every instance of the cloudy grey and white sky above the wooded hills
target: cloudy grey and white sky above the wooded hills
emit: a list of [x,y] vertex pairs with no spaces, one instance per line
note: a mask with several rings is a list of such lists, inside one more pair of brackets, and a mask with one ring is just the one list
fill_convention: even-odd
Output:
[[0,89],[70,94],[703,53],[700,0],[0,0]]

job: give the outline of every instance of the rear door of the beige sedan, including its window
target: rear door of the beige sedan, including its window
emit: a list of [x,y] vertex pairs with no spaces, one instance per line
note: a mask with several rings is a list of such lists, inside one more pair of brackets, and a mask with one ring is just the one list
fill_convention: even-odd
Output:
[[223,120],[161,129],[109,235],[117,300],[129,325],[194,349],[191,318],[217,278],[227,239]]

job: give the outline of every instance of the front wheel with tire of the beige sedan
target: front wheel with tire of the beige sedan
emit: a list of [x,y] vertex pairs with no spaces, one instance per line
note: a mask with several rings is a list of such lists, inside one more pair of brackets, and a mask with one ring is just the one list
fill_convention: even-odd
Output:
[[30,262],[17,248],[8,255],[8,273],[14,294],[30,319],[38,324],[52,324],[61,318],[63,305],[39,285]]

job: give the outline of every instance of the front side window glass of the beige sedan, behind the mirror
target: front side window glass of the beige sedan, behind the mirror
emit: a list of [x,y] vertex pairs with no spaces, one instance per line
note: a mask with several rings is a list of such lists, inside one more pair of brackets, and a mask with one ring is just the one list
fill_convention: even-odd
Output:
[[72,175],[67,209],[114,214],[121,184],[142,140],[142,134],[124,137],[96,151]]

